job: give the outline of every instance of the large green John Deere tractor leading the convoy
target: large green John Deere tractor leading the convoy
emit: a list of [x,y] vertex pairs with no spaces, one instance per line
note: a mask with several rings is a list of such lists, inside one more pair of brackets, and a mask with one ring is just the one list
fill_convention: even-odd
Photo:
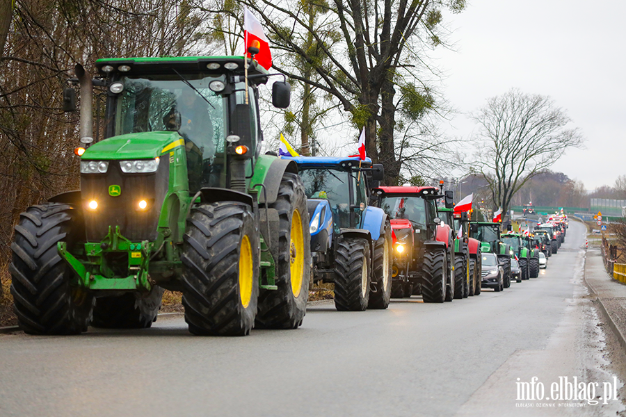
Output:
[[[250,49],[254,53],[253,48]],[[81,90],[81,190],[29,207],[15,227],[12,293],[29,334],[150,327],[181,291],[198,335],[294,329],[311,254],[296,163],[260,154],[259,85],[242,56],[97,60]],[[106,89],[93,140],[93,85]],[[273,84],[274,106],[290,87]],[[64,92],[72,111],[76,95]],[[90,145],[90,146],[89,146]]]

